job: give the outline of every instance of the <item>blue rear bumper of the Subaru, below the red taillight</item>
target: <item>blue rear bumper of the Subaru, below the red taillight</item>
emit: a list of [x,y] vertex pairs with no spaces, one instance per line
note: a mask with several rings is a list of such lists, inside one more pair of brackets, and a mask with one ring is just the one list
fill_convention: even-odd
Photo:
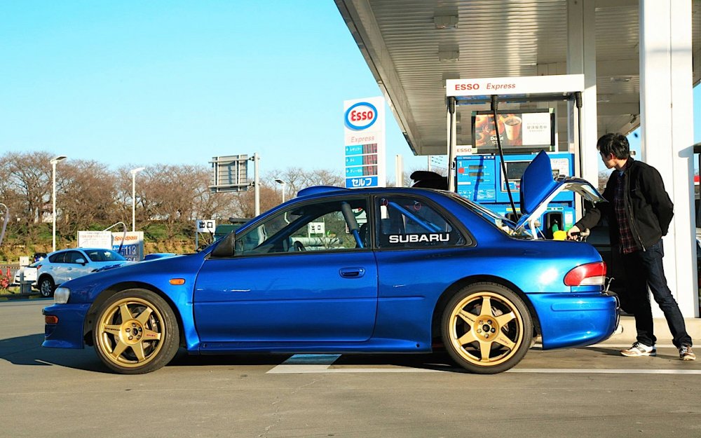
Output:
[[544,350],[601,342],[618,326],[617,296],[592,292],[529,294],[529,298],[540,320]]

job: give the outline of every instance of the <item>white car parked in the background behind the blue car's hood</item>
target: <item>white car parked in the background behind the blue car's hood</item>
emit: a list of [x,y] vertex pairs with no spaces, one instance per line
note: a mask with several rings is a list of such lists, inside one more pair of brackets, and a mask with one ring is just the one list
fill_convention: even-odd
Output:
[[126,263],[127,259],[111,249],[61,249],[48,254],[37,264],[39,292],[43,296],[52,296],[56,287],[63,282]]

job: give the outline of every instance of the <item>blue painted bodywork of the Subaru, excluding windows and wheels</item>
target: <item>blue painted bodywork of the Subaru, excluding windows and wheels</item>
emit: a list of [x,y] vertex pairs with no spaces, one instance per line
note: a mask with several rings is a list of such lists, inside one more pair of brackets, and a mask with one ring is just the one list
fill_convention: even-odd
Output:
[[[184,345],[190,353],[430,351],[432,336],[436,335],[431,327],[435,306],[445,291],[465,279],[501,282],[526,297],[535,310],[533,316],[542,331],[543,348],[594,343],[615,329],[618,313],[613,296],[602,294],[600,286],[572,288],[563,282],[571,268],[601,260],[590,245],[511,238],[454,199],[431,190],[339,189],[308,193],[311,194],[250,221],[238,232],[307,200],[349,193],[400,194],[421,196],[444,207],[452,219],[465,225],[463,233],[469,233],[469,242],[456,248],[375,248],[231,259],[210,259],[210,252],[216,247],[212,245],[199,254],[123,266],[65,283],[64,287],[71,290],[70,302],[48,306],[43,311],[59,318],[57,326],[47,327],[43,346],[83,348],[84,319],[90,303],[119,285],[142,285],[166,296],[179,316]],[[325,257],[342,259],[343,254],[347,257],[343,263],[331,263],[332,267],[324,271]],[[278,257],[285,257],[285,266],[280,265]],[[229,262],[232,271],[224,273]],[[313,266],[316,271],[311,272],[320,277],[311,278],[306,271],[300,275],[299,270],[304,271],[302,267],[307,265]],[[364,268],[364,281],[374,280],[376,290],[373,292],[372,285],[365,282],[353,293],[351,285],[357,284],[354,282],[358,279],[341,279],[339,266]],[[271,267],[282,268],[284,273],[271,277],[266,274]],[[283,275],[294,279],[292,285],[283,283]],[[170,285],[171,278],[183,278],[184,285]],[[331,289],[326,280],[346,282],[348,287]],[[296,293],[304,294],[304,299],[295,299]],[[222,308],[217,308],[221,303]],[[280,310],[280,306],[285,310]],[[247,308],[252,309],[250,317],[246,317]],[[242,322],[236,317],[243,317],[243,322],[251,326],[242,329]],[[324,329],[333,322],[338,325],[329,333],[320,333],[311,322]],[[285,327],[290,328],[288,334]],[[257,330],[262,331],[261,336],[256,336]]]

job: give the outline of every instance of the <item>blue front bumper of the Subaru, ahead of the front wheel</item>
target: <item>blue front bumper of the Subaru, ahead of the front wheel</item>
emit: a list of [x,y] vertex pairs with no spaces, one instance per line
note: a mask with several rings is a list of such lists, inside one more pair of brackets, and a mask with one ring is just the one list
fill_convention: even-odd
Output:
[[42,347],[83,348],[83,322],[90,304],[54,304],[41,310],[42,315],[55,316],[57,324],[44,324]]

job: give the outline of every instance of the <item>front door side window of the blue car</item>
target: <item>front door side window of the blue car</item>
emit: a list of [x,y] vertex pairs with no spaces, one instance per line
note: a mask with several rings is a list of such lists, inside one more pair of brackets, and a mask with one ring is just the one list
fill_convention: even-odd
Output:
[[235,254],[362,249],[369,247],[360,235],[366,223],[365,198],[296,205],[237,234]]

